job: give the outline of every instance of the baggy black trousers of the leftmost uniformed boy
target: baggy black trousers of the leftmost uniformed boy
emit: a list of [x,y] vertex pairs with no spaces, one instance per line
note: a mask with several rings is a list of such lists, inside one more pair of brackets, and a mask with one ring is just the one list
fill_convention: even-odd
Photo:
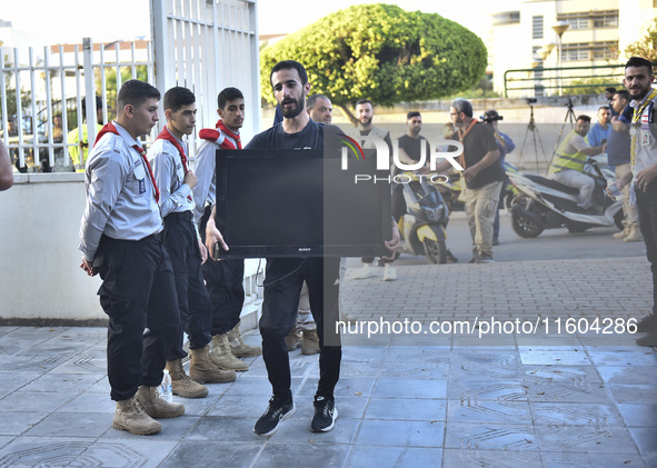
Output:
[[109,316],[110,395],[126,400],[140,385],[162,381],[179,325],[171,260],[159,236],[139,241],[103,236],[93,266],[102,279],[100,305]]

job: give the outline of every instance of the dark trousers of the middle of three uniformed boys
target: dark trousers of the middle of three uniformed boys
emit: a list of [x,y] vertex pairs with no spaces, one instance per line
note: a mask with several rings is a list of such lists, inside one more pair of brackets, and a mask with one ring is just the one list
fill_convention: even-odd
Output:
[[165,245],[171,257],[176,293],[180,311],[178,336],[167,360],[187,357],[182,349],[183,332],[189,335],[189,347],[201,349],[210,342],[212,306],[201,273],[201,253],[191,211],[172,212],[165,218]]

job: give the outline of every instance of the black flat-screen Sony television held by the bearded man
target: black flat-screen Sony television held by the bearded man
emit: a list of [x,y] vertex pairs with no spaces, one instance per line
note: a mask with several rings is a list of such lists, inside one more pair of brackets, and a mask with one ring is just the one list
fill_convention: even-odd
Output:
[[390,253],[389,171],[374,155],[345,169],[322,153],[217,150],[216,225],[229,247],[220,258]]

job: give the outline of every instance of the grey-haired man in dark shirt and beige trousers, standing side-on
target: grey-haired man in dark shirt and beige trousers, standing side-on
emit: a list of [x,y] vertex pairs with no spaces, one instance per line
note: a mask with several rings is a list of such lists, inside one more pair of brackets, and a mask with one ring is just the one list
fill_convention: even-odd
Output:
[[[466,181],[466,215],[475,242],[470,263],[492,262],[492,223],[499,201],[505,173],[500,165],[499,149],[492,130],[472,118],[472,104],[465,99],[455,99],[449,108],[451,122],[464,145],[459,163],[464,167]],[[447,170],[450,163],[440,161],[436,170]]]

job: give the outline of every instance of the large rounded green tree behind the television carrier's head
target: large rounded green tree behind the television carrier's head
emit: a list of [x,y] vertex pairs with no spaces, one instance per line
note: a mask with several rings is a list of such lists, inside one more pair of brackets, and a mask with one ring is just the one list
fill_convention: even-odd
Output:
[[266,47],[260,84],[265,99],[275,102],[271,68],[297,60],[308,70],[311,92],[327,94],[352,118],[359,99],[392,106],[470,89],[484,77],[486,56],[481,39],[439,14],[359,4]]

